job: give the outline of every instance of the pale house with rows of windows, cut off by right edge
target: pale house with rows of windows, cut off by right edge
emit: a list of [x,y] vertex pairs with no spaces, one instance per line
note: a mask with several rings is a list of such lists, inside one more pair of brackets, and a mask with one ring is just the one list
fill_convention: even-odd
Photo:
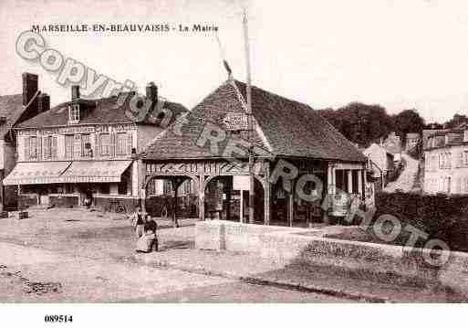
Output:
[[468,129],[432,133],[424,162],[425,193],[468,194]]

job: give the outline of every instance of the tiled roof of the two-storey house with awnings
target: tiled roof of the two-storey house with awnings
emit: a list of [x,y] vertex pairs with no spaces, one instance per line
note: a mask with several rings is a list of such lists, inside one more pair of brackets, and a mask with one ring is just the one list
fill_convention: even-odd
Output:
[[[37,114],[30,120],[18,124],[18,128],[40,128],[47,126],[63,126],[68,124],[68,104],[71,101],[63,102],[48,111]],[[137,122],[137,120],[130,119],[126,111],[130,108],[130,101],[127,100],[123,104],[118,105],[118,98],[116,96],[109,98],[102,98],[96,101],[83,101],[83,103],[91,104],[92,108],[87,111],[87,114],[80,118],[80,124],[102,124],[113,122]],[[187,109],[179,103],[165,101],[164,109],[172,111],[173,118],[181,114]]]

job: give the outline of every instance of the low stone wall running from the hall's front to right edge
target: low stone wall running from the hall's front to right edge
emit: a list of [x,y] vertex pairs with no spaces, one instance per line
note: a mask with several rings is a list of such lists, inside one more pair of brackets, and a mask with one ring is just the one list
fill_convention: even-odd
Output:
[[[314,236],[315,235],[315,236]],[[314,230],[248,225],[230,221],[196,224],[195,247],[245,251],[302,268],[338,267],[381,277],[402,277],[424,284],[443,284],[468,295],[468,253],[450,252],[448,262],[432,267],[422,249],[317,237]],[[427,250],[425,250],[427,251]],[[446,254],[446,253],[445,253]]]

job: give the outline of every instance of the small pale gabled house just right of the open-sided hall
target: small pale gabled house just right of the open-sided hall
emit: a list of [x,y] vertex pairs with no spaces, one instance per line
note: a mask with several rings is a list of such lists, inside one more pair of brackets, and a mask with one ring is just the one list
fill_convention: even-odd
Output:
[[374,178],[380,176],[381,185],[387,185],[389,176],[395,170],[394,155],[377,143],[372,143],[364,153],[369,159],[368,167]]

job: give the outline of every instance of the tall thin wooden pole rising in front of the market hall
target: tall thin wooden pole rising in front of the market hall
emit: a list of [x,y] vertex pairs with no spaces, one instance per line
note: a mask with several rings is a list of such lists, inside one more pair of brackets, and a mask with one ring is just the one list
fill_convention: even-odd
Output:
[[247,24],[247,14],[244,8],[244,43],[245,43],[245,63],[247,69],[247,141],[249,143],[249,223],[255,223],[254,217],[254,199],[255,199],[255,176],[254,176],[254,154],[253,154],[253,143],[252,143],[252,130],[253,130],[253,117],[252,117],[252,78],[250,72],[250,48],[249,48],[249,31]]

